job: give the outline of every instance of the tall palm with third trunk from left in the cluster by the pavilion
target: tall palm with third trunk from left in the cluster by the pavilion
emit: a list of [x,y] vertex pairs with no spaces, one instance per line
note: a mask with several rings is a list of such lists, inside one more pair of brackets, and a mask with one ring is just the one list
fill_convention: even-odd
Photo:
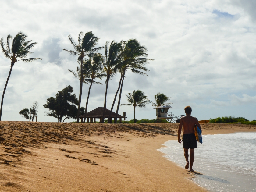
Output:
[[105,81],[106,91],[105,91],[103,117],[100,123],[104,123],[104,119],[105,119],[105,112],[106,112],[106,106],[107,106],[108,82],[120,69],[120,61],[122,59],[121,43],[116,43],[115,41],[112,41],[109,46],[108,46],[108,43],[109,42],[107,41],[105,44],[105,55],[104,57],[102,57],[103,71],[107,76],[107,79]]

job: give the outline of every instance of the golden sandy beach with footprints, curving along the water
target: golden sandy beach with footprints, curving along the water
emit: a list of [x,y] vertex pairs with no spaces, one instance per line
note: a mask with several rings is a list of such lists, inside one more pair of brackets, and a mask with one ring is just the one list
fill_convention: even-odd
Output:
[[[156,150],[177,140],[177,129],[178,123],[0,121],[0,191],[205,191],[189,179],[193,173]],[[217,134],[256,126],[202,129]]]

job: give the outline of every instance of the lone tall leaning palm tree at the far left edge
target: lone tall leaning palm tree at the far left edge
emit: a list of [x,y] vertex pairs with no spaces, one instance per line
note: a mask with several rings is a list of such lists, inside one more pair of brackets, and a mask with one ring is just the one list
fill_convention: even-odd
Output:
[[[33,53],[30,50],[35,46],[35,44],[37,44],[37,42],[32,42],[31,43],[32,40],[26,41],[26,38],[27,38],[27,35],[25,35],[24,33],[22,33],[20,31],[13,38],[11,47],[10,47],[10,41],[12,39],[12,36],[10,34],[7,36],[6,47],[5,47],[5,44],[4,44],[4,38],[1,38],[1,40],[0,40],[0,44],[1,44],[1,47],[2,47],[2,52],[4,53],[6,58],[11,60],[11,69],[9,71],[9,75],[7,77],[7,80],[6,80],[6,83],[5,83],[5,88],[4,88],[3,95],[2,95],[1,109],[0,109],[0,121],[1,121],[1,118],[2,118],[2,108],[3,108],[5,90],[6,90],[9,78],[11,76],[12,67],[14,66],[14,63],[16,63],[18,61],[23,61],[23,62],[28,63],[28,62],[35,61],[37,59],[41,59],[41,58],[38,58],[38,57],[37,58],[24,59],[24,58],[27,57],[28,54]],[[20,58],[20,60],[17,60],[18,58]]]

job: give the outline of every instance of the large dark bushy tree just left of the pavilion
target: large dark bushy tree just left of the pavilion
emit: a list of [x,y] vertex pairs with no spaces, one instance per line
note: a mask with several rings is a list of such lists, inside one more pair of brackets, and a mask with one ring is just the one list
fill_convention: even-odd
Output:
[[45,115],[57,118],[58,122],[62,122],[64,116],[66,116],[65,119],[76,119],[78,110],[76,105],[78,105],[79,101],[76,98],[76,94],[72,93],[73,88],[69,85],[62,91],[58,91],[56,98],[48,98],[46,104],[43,105],[44,108],[49,110],[48,112],[45,112]]

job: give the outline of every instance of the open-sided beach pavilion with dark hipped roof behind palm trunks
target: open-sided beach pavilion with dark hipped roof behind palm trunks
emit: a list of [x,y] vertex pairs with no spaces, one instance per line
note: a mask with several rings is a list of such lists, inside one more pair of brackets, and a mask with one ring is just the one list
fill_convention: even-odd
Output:
[[[101,122],[102,117],[103,117],[103,110],[104,110],[104,107],[98,107],[90,112],[87,112],[86,113],[87,123],[89,123],[89,122],[96,123],[96,119],[100,119],[100,122]],[[108,119],[109,114],[110,114],[110,110],[108,110],[106,108],[105,119]],[[112,118],[115,118],[115,116],[116,116],[116,113],[112,112],[110,123],[112,123]],[[79,116],[79,118],[81,119],[81,122],[83,122],[84,115]],[[119,118],[119,122],[122,123],[122,118],[124,118],[124,116],[117,114],[117,118]],[[90,121],[89,121],[89,119],[90,119]]]

